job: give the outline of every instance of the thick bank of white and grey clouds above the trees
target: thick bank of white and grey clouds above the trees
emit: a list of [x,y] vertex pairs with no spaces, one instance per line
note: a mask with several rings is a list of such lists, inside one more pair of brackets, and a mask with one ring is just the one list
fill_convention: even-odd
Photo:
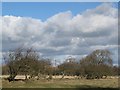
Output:
[[71,11],[60,12],[44,22],[30,17],[2,16],[3,52],[20,45],[33,46],[42,56],[84,56],[96,49],[109,49],[116,58],[117,23],[117,8],[110,3],[76,16]]

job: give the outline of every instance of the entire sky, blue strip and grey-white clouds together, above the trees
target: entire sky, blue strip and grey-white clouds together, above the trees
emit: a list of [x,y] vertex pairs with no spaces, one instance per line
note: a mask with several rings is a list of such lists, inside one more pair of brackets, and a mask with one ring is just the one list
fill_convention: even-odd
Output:
[[2,52],[34,47],[61,62],[96,49],[118,61],[117,3],[3,3]]

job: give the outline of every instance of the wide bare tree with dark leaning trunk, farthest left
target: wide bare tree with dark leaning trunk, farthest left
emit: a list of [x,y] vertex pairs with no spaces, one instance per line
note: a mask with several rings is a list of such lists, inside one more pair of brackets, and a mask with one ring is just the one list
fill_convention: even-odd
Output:
[[38,70],[39,55],[32,48],[23,49],[17,48],[4,55],[4,60],[9,68],[9,81],[14,81],[14,78],[19,72],[23,72],[27,79],[27,74],[35,74]]

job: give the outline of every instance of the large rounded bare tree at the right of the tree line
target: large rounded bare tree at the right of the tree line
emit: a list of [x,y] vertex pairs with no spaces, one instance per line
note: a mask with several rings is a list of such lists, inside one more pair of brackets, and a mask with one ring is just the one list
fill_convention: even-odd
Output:
[[95,50],[80,60],[81,74],[86,78],[101,78],[112,74],[111,53],[108,50]]

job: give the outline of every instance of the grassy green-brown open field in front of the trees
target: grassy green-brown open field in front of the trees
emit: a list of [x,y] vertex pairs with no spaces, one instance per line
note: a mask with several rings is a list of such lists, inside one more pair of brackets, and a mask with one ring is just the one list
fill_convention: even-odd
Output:
[[[21,76],[22,77],[22,76]],[[53,79],[8,82],[2,80],[3,88],[118,88],[118,78],[107,79]]]

